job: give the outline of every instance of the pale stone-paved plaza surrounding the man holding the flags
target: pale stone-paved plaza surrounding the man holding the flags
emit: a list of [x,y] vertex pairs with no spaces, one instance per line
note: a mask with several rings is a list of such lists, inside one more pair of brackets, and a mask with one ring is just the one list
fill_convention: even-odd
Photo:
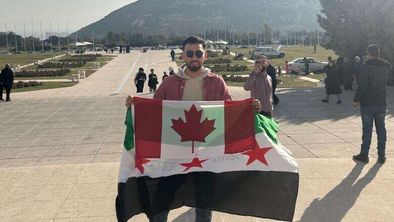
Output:
[[[117,54],[114,54],[117,55]],[[11,94],[0,103],[0,221],[116,221],[124,101],[136,95],[139,67],[176,67],[169,51],[132,51],[114,58],[73,87]],[[145,93],[152,98],[145,84]],[[294,221],[393,221],[394,88],[388,89],[387,161],[376,163],[376,135],[369,164],[356,163],[361,117],[352,107],[321,102],[324,88],[278,90],[274,117],[279,141],[299,161],[300,188]],[[235,100],[249,97],[230,87]],[[130,200],[132,201],[132,200]],[[194,210],[172,210],[169,221],[194,221]],[[131,221],[147,221],[137,215]],[[213,221],[272,221],[214,212]]]

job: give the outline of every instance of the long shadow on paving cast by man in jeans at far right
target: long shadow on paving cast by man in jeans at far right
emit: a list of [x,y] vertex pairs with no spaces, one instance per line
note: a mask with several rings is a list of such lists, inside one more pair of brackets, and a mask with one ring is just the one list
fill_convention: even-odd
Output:
[[[300,221],[340,221],[353,207],[362,190],[372,182],[382,164],[375,163],[357,181],[365,164],[358,162],[348,176],[321,199],[314,199]],[[356,182],[357,181],[357,182]],[[356,182],[356,183],[355,183]]]

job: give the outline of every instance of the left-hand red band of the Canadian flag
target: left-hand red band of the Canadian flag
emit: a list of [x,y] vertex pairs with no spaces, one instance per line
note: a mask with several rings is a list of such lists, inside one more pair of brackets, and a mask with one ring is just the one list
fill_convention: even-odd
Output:
[[162,101],[134,97],[135,158],[160,158]]

